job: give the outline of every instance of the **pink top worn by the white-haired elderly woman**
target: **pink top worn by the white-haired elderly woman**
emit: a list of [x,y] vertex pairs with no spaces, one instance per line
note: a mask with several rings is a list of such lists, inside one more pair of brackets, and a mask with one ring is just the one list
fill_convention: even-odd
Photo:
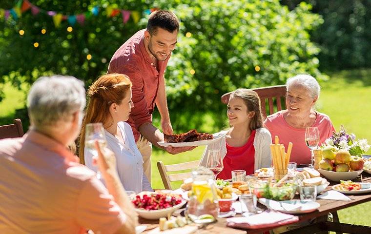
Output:
[[[278,136],[280,144],[284,144],[287,150],[289,142],[291,141],[292,152],[290,162],[296,162],[297,164],[309,164],[310,150],[305,143],[305,128],[294,128],[286,122],[284,111],[279,111],[267,117],[264,124],[268,128],[272,135],[272,141],[274,137]],[[317,127],[320,135],[319,145],[321,145],[327,138],[332,136],[332,132],[335,132],[335,128],[332,125],[330,117],[325,114],[316,112],[317,117],[311,127]]]

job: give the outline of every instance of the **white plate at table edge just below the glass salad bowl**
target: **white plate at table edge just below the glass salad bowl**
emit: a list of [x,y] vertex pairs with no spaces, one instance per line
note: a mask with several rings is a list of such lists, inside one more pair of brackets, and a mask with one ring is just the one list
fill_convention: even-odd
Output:
[[267,206],[269,209],[293,215],[310,213],[317,210],[321,206],[315,201],[301,201],[298,199],[274,201],[266,198],[259,198],[259,202]]

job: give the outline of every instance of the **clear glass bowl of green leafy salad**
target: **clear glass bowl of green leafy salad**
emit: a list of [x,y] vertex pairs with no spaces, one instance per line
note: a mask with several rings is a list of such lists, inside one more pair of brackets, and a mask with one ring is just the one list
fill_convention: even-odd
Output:
[[249,183],[250,192],[256,198],[267,198],[275,201],[291,200],[295,196],[297,184],[285,180],[278,184],[277,180],[255,179]]

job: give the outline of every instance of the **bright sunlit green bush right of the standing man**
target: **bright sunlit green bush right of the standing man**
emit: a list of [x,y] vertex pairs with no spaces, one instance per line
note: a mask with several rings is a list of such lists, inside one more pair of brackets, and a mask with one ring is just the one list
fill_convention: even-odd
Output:
[[[178,5],[160,0],[159,5],[171,7],[182,21],[166,72],[177,129],[196,122],[195,110],[211,112],[216,126],[223,126],[226,106],[220,97],[236,88],[283,84],[298,73],[326,78],[317,69],[319,49],[309,37],[323,20],[307,3],[292,11],[278,0],[183,0]],[[188,121],[178,121],[185,113]]]

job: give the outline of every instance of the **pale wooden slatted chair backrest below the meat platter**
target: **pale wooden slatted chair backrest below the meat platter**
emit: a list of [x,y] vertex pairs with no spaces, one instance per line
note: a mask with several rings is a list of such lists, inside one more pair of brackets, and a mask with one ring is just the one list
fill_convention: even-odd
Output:
[[197,168],[201,160],[183,162],[178,164],[164,165],[162,161],[157,162],[157,168],[159,169],[161,179],[163,181],[165,189],[170,189],[172,181],[179,181],[192,176],[191,172],[183,172],[177,174],[168,174],[168,172],[177,172]]

